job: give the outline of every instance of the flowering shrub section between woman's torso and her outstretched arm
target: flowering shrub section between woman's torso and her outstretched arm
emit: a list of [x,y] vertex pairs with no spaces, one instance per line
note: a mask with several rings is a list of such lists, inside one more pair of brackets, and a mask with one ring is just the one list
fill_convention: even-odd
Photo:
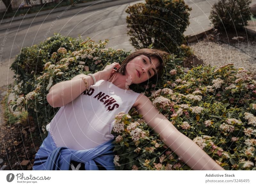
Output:
[[134,108],[129,114],[120,112],[115,117],[112,133],[116,136],[113,142],[117,154],[114,158],[116,169],[178,170],[181,157],[164,145],[164,139],[160,140],[141,117]]

